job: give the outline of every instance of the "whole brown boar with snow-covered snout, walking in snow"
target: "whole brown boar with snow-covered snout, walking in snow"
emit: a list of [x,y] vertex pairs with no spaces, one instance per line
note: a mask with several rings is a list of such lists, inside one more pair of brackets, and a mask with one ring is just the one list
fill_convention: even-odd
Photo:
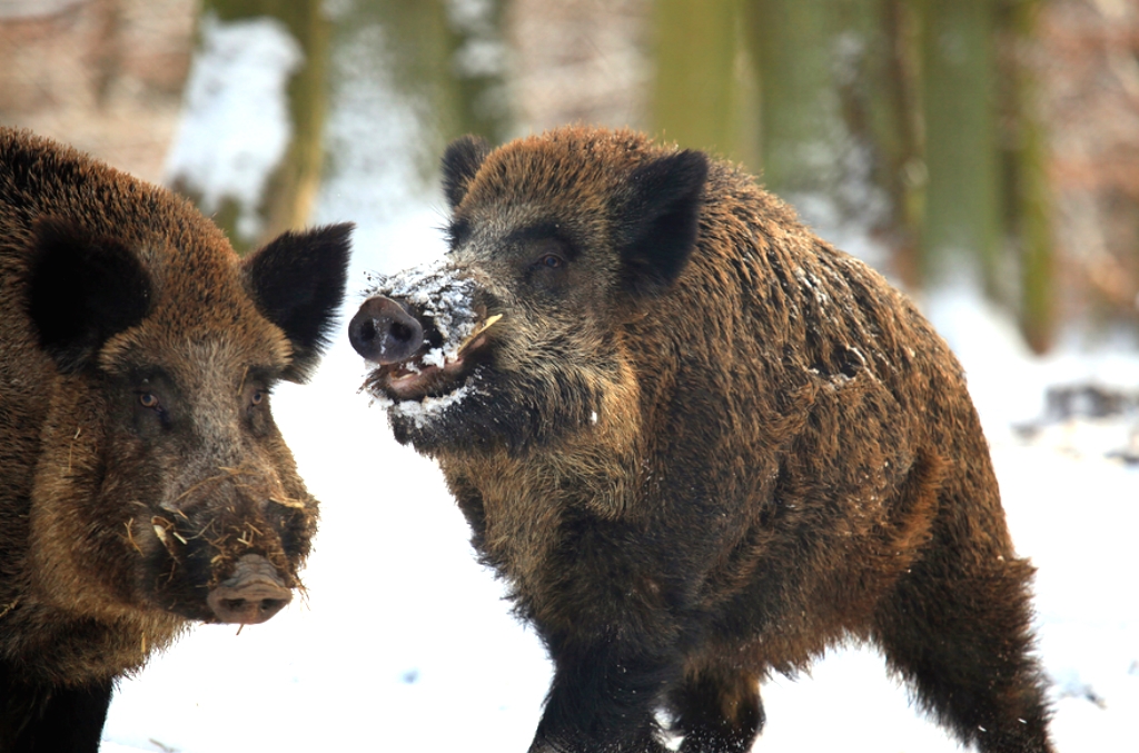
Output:
[[352,320],[555,676],[533,753],[747,751],[759,681],[869,641],[986,752],[1050,750],[961,368],[732,166],[566,128],[443,157],[444,262]]

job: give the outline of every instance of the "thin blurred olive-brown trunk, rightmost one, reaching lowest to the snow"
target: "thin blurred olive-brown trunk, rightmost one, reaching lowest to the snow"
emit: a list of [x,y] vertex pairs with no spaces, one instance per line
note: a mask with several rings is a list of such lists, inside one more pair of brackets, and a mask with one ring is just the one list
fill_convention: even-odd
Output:
[[1047,138],[1031,59],[1040,7],[1040,0],[1005,0],[1000,8],[1005,224],[1019,268],[1021,333],[1036,353],[1052,345],[1058,305]]

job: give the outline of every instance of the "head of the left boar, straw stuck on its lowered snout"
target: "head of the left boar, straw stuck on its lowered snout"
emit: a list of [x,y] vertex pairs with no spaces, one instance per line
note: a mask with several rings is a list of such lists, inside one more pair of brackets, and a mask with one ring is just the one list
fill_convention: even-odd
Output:
[[220,234],[36,223],[27,311],[57,374],[30,521],[39,600],[256,623],[292,598],[317,501],[270,393],[327,344],[350,231],[285,234],[239,261]]

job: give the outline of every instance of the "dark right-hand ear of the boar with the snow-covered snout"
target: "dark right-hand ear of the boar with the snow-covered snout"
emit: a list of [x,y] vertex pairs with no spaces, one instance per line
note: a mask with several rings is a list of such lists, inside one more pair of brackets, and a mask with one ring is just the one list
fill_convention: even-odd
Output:
[[625,287],[654,294],[680,276],[696,245],[708,161],[678,152],[633,170],[618,208],[616,240]]

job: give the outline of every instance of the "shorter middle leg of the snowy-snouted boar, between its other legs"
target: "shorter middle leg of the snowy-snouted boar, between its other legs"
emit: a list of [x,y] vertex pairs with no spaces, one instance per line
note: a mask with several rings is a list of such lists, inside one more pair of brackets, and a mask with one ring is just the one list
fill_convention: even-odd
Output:
[[760,681],[740,671],[689,674],[669,694],[681,753],[747,753],[763,728]]

